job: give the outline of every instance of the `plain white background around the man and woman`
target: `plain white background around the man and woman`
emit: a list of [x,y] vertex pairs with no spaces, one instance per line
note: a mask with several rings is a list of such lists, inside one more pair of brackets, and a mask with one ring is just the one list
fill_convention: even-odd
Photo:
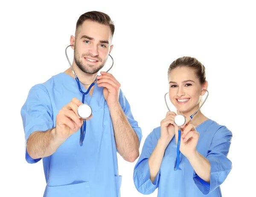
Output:
[[[110,72],[121,83],[142,128],[140,151],[146,136],[166,115],[163,96],[168,92],[169,65],[181,56],[195,57],[205,65],[209,83],[203,113],[233,132],[228,155],[233,169],[221,185],[222,194],[252,196],[256,175],[253,1],[16,0],[1,2],[0,7],[0,196],[43,196],[42,160],[25,161],[20,108],[34,84],[69,67],[65,47],[75,33],[76,20],[92,10],[106,12],[115,23],[111,52],[115,64]],[[137,160],[118,159],[122,197],[142,197],[133,183]],[[156,196],[157,190],[148,195]]]

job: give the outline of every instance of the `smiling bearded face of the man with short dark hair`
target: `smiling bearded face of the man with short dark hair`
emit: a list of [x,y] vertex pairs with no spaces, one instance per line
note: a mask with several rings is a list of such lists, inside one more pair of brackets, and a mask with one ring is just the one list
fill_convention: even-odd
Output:
[[88,74],[99,72],[112,50],[111,40],[109,26],[85,20],[76,32],[74,48],[76,65]]

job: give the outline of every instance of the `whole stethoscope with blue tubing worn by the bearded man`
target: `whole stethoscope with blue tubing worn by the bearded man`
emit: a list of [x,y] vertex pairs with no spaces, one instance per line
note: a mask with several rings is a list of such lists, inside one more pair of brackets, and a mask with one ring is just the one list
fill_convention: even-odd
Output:
[[[71,44],[69,46],[74,46],[74,44]],[[66,57],[67,57],[67,48],[69,47],[67,46],[66,49],[65,49],[65,53],[66,53]],[[109,70],[111,70],[111,68],[113,67],[113,64],[114,64],[114,60],[112,58],[112,56],[110,54],[108,54],[111,59],[112,59],[112,65],[111,67],[107,70],[107,72]],[[69,61],[69,58],[67,57],[67,61],[69,62],[70,64],[70,61]],[[80,83],[83,84],[82,82],[79,81],[79,78],[77,77],[72,65],[70,64],[70,67],[73,71],[73,74],[76,78],[76,82],[77,82],[77,85],[78,85],[78,88],[79,88],[79,91],[82,93],[83,97],[82,97],[82,103],[78,109],[77,109],[77,113],[78,115],[81,117],[81,119],[84,119],[84,122],[83,122],[83,125],[81,126],[80,128],[80,146],[83,145],[83,142],[84,142],[84,136],[85,136],[85,130],[86,130],[86,119],[89,118],[92,114],[92,108],[90,107],[90,105],[88,104],[84,104],[84,96],[87,95],[89,92],[90,92],[90,89],[95,85],[97,79],[95,79],[95,81],[93,81],[92,84],[90,84],[90,87],[88,88],[88,90],[86,92],[84,92],[82,89],[81,89],[81,86],[80,86]],[[85,84],[84,84],[85,85]]]

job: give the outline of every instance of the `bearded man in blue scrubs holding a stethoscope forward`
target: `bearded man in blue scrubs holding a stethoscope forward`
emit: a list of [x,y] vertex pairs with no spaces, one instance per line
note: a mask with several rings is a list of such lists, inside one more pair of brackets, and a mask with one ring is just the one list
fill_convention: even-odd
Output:
[[44,197],[118,197],[122,177],[116,152],[128,162],[139,156],[142,132],[119,82],[110,73],[98,75],[113,48],[114,29],[107,14],[87,12],[76,23],[75,37],[70,37],[81,89],[86,92],[98,79],[85,96],[92,116],[82,146],[83,119],[77,113],[82,94],[71,68],[34,85],[21,109],[26,161],[43,159]]

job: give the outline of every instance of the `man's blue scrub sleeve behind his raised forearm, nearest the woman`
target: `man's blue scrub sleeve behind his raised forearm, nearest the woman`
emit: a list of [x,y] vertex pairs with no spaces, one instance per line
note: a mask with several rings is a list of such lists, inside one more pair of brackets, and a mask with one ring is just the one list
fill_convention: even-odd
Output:
[[124,110],[125,115],[127,116],[129,123],[131,124],[131,127],[136,132],[136,134],[139,138],[139,142],[141,142],[141,139],[142,139],[141,128],[139,127],[138,122],[134,119],[134,116],[131,112],[131,106],[130,106],[129,102],[127,101],[127,99],[125,98],[125,95],[122,93],[122,90],[120,90],[120,94],[119,94],[119,103],[120,103],[122,109]]

